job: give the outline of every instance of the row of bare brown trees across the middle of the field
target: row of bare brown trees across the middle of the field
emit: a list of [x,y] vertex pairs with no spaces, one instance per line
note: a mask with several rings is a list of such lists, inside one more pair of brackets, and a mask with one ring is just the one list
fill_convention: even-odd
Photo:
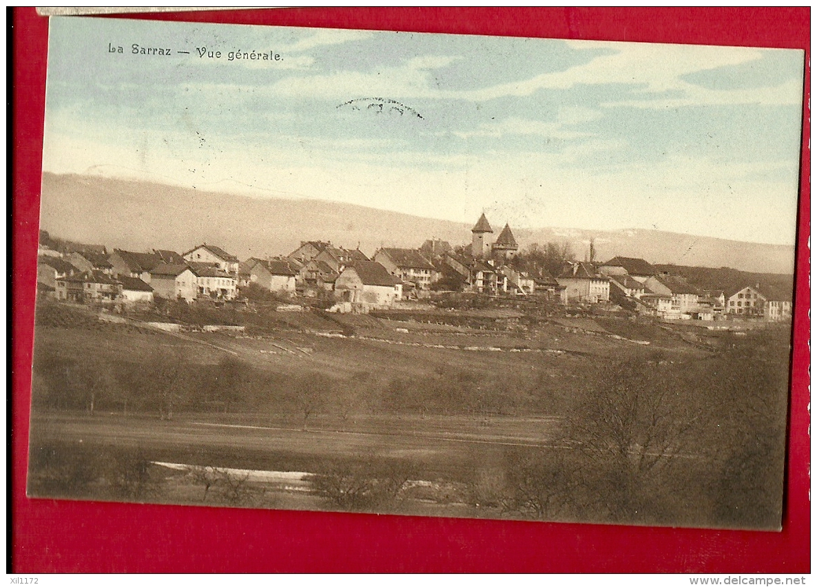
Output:
[[525,380],[440,367],[419,378],[349,378],[319,372],[283,373],[238,358],[200,364],[181,350],[154,350],[140,362],[102,356],[38,356],[33,370],[35,406],[53,410],[140,413],[172,420],[181,412],[315,416],[346,420],[355,413],[507,414],[538,412],[535,389]]

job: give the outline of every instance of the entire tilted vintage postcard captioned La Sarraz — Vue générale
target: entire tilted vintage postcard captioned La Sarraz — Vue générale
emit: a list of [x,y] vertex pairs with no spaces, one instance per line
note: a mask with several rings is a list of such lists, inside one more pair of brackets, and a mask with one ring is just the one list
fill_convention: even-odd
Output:
[[50,27],[29,496],[779,529],[802,51]]

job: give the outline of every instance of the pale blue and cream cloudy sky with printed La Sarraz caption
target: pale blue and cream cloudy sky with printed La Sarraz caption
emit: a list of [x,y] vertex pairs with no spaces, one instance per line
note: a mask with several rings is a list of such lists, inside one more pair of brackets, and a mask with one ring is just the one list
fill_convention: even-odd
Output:
[[44,171],[794,244],[802,51],[50,21]]

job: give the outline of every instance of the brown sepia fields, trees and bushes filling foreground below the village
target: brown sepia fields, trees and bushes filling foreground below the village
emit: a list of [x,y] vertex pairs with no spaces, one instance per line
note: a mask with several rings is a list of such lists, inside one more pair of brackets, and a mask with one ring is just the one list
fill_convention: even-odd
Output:
[[785,329],[513,309],[281,314],[239,316],[238,335],[174,334],[41,305],[29,493],[779,524]]

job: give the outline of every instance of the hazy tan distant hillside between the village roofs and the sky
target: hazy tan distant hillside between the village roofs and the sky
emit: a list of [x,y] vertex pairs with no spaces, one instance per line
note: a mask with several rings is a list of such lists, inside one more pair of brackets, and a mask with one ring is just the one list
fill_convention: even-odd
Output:
[[[40,228],[60,238],[101,243],[109,249],[184,252],[200,242],[212,242],[242,259],[288,254],[302,240],[331,240],[351,248],[359,245],[366,254],[381,246],[419,247],[426,238],[442,238],[452,245],[471,240],[470,224],[338,202],[250,198],[50,173],[42,180]],[[514,229],[514,233],[520,247],[532,242],[569,242],[580,260],[593,238],[597,260],[638,256],[651,263],[729,266],[760,273],[792,273],[794,265],[793,247],[658,230]]]

